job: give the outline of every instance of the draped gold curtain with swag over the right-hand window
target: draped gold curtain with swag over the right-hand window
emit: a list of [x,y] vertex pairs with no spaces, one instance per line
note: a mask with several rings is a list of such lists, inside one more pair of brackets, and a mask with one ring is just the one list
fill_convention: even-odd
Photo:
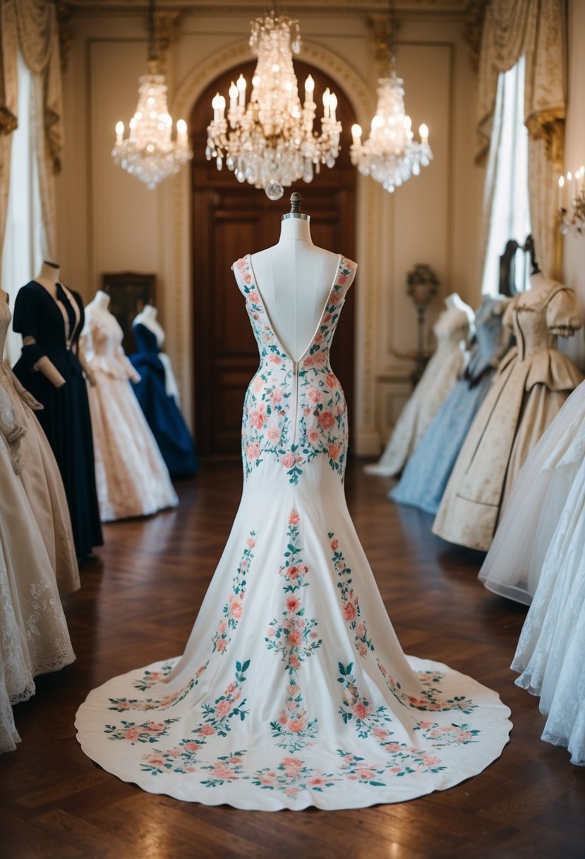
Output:
[[[523,56],[526,63],[524,122],[528,127],[530,221],[540,269],[554,268],[555,174],[562,169],[566,104],[565,0],[490,0],[479,52],[476,161],[485,161],[492,138],[498,75]],[[485,217],[491,215],[488,174]],[[488,220],[489,222],[489,220]],[[522,236],[520,237],[522,238]]]

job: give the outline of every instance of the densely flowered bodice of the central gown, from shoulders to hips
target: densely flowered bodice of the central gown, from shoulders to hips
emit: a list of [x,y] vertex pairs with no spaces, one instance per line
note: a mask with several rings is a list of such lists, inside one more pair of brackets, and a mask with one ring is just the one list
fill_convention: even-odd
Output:
[[296,485],[306,466],[324,461],[343,480],[347,405],[329,364],[329,349],[355,270],[355,263],[340,256],[317,330],[303,354],[293,361],[274,332],[250,255],[234,265],[260,353],[260,366],[244,399],[242,458],[246,479],[262,463],[271,461],[286,473],[289,483]]

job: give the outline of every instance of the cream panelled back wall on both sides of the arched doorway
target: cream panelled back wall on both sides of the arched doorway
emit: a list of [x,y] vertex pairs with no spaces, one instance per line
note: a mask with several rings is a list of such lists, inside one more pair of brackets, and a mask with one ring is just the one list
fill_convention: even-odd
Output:
[[[181,115],[178,111],[187,118],[202,88],[249,56],[249,19],[245,14],[182,16],[166,55],[173,119]],[[307,15],[300,23],[301,58],[338,80],[362,125],[369,126],[377,65],[365,15]],[[156,272],[167,350],[192,419],[189,171],[150,192],[114,168],[110,156],[116,121],[127,124],[136,108],[138,76],[146,70],[146,21],[104,13],[75,16],[71,27],[64,77],[67,140],[58,180],[63,271],[87,299],[105,271]],[[396,61],[405,80],[407,113],[415,128],[423,121],[429,125],[435,160],[394,195],[359,179],[353,415],[353,449],[359,454],[377,453],[410,390],[413,364],[400,354],[416,346],[407,271],[415,263],[428,263],[441,279],[441,296],[456,291],[472,305],[480,296],[483,171],[473,165],[475,78],[461,21],[403,21]],[[429,326],[440,308],[439,297]]]

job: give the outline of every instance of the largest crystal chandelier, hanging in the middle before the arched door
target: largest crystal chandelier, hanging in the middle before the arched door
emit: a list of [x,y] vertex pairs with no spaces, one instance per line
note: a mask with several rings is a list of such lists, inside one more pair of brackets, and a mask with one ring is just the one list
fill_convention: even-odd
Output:
[[224,159],[238,182],[263,188],[271,200],[282,197],[283,186],[302,179],[311,182],[321,164],[331,168],[339,155],[341,123],[336,119],[337,97],[327,88],[323,94],[321,134],[313,131],[317,106],[315,82],[305,81],[301,106],[293,52],[301,46],[299,21],[276,15],[252,21],[250,48],[258,58],[246,107],[247,83],[240,75],[226,99],[219,93],[211,102],[214,119],[208,125],[208,161],[218,170]]

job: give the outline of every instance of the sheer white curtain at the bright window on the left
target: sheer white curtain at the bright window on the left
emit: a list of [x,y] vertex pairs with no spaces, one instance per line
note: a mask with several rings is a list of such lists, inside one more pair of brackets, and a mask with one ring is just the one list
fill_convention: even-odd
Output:
[[[39,192],[38,135],[31,122],[36,76],[18,52],[18,128],[12,134],[6,231],[2,249],[2,286],[15,306],[18,289],[39,272],[43,259],[43,218]],[[21,335],[10,327],[4,357],[14,364],[21,354]]]

